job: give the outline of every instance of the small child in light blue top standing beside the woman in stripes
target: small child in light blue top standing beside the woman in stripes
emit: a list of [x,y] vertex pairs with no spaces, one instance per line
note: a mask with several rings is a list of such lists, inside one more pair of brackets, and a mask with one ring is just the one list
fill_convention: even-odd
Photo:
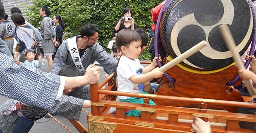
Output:
[[24,61],[24,66],[31,66],[36,68],[44,68],[44,63],[42,63],[42,56],[38,56],[38,60],[35,60],[35,51],[26,50],[25,53],[26,61]]

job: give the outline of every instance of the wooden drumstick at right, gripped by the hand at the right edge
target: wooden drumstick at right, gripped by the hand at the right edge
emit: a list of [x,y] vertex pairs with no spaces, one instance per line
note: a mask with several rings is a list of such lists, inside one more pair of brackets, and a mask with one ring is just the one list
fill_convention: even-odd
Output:
[[[236,51],[236,43],[233,39],[233,36],[230,32],[230,29],[229,29],[228,25],[227,24],[222,24],[219,28],[221,30],[222,37],[224,38],[224,41],[225,41],[228,49],[233,54],[233,60],[236,61],[236,65],[237,65],[238,69],[239,70],[244,70],[245,69],[244,64],[241,60],[239,52]],[[247,87],[250,95],[251,96],[255,95],[256,92],[255,92],[255,89],[253,88],[253,84],[250,82],[250,80],[244,79],[244,82],[246,84],[246,87]]]

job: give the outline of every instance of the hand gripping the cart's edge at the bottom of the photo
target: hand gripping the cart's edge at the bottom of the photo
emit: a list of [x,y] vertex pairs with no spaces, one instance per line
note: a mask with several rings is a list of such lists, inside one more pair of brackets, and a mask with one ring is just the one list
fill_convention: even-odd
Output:
[[204,122],[199,117],[193,118],[193,123],[191,124],[193,130],[195,130],[196,133],[210,133],[211,132],[211,124],[210,121]]

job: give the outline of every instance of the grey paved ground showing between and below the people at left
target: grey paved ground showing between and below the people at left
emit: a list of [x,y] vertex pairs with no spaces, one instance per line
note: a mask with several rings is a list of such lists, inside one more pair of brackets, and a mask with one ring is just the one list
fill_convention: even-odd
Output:
[[[45,68],[42,69],[44,72],[49,72],[49,67],[47,64],[46,58],[43,58],[43,63],[45,64]],[[104,75],[106,74],[103,71],[103,68],[100,69],[101,78],[99,80],[99,83],[101,83],[104,80]],[[0,96],[0,104],[4,103],[8,98]],[[87,111],[90,112],[90,108],[86,108]],[[86,120],[86,113],[82,112],[79,121],[87,127],[87,120]],[[64,117],[61,116],[55,116],[56,119],[58,119],[61,123],[66,125],[70,130],[72,130],[74,133],[79,133],[75,127]],[[48,121],[49,120],[49,121]],[[39,123],[43,122],[43,123]],[[69,133],[65,128],[63,128],[60,124],[55,122],[53,119],[45,119],[42,118],[35,122],[35,125],[32,127],[32,129],[29,131],[29,133]]]

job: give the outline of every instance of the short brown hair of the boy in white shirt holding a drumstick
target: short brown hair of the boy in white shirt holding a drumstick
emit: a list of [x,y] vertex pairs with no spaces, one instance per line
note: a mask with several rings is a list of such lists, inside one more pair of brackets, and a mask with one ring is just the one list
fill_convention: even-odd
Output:
[[121,47],[129,47],[131,42],[141,41],[140,34],[131,29],[123,29],[119,31],[116,35],[116,46],[119,51],[121,51]]

